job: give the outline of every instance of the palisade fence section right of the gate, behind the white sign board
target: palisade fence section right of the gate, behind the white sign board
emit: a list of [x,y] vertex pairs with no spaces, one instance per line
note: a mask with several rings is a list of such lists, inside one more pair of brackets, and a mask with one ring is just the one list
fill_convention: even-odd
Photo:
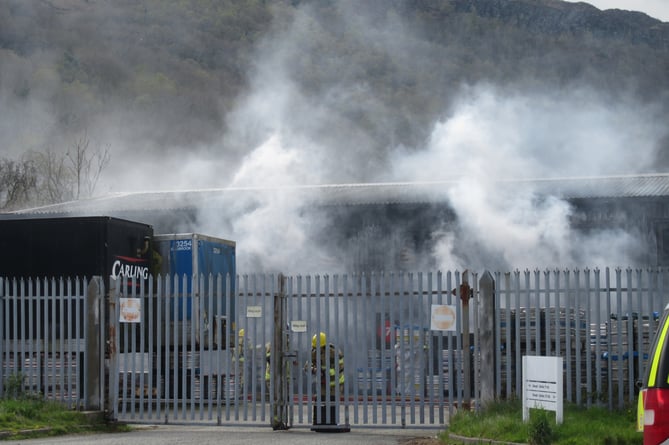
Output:
[[496,273],[496,396],[520,395],[523,355],[547,355],[564,358],[567,401],[633,402],[667,278],[655,268]]

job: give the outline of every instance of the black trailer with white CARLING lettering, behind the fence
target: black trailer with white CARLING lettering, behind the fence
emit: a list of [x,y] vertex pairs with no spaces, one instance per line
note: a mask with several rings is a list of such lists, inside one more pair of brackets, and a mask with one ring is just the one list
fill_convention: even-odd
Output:
[[[125,290],[130,293],[133,277],[135,287],[139,287],[140,280],[147,280],[152,274],[152,239],[152,226],[107,216],[0,220],[0,277],[39,280],[46,283],[40,291],[45,294],[49,292],[52,278],[101,276],[108,295],[110,276],[115,276],[122,278],[121,283],[128,284]],[[7,290],[11,293],[12,286]],[[30,313],[41,314],[41,319],[32,323],[33,332],[29,334],[32,337],[40,326],[43,333],[49,329],[57,337],[82,338],[82,333],[75,332],[74,328],[74,320],[84,320],[81,305],[79,311],[75,311],[66,303],[61,306],[42,300],[38,311],[36,304],[32,302],[32,312],[28,301],[17,308],[11,302],[5,307],[6,313],[17,315],[16,320],[11,317],[7,320],[5,340],[13,339],[16,333],[22,337]],[[105,323],[108,317],[107,313]],[[59,324],[50,326],[51,320]],[[139,331],[131,338],[138,342]],[[121,344],[124,344],[123,339]]]

